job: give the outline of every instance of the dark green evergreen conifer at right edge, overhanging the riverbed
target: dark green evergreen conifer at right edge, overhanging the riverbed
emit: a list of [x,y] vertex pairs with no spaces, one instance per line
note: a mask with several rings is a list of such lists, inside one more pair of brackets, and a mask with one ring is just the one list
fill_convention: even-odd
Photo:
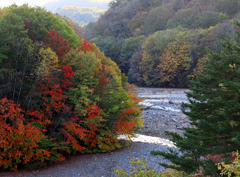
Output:
[[[239,26],[239,24],[238,24]],[[238,28],[239,30],[239,28]],[[220,176],[216,162],[226,161],[240,149],[240,32],[235,40],[221,42],[220,53],[209,52],[204,74],[198,74],[187,93],[190,111],[184,112],[192,127],[184,137],[167,132],[178,152],[152,151],[172,165],[192,173],[202,167],[205,175]]]

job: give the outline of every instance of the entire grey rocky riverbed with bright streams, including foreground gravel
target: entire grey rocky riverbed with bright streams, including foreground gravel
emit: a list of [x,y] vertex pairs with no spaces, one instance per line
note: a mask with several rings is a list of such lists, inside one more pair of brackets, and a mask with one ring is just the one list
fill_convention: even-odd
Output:
[[[111,153],[72,155],[64,162],[38,170],[3,172],[0,176],[20,177],[114,177],[113,168],[130,170],[129,158],[147,160],[150,168],[163,170],[158,162],[166,162],[160,156],[150,155],[151,150],[168,151],[175,148],[164,131],[183,133],[189,126],[187,117],[181,112],[182,102],[188,102],[185,89],[140,88],[139,96],[144,100],[143,119],[145,127],[137,132],[130,145]],[[121,137],[124,138],[124,137]]]

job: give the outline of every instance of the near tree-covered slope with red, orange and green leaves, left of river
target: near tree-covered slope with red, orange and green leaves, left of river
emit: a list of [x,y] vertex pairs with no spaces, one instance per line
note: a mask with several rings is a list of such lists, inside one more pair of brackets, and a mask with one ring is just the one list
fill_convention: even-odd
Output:
[[0,8],[0,170],[112,151],[142,126],[126,77],[76,32],[40,7]]

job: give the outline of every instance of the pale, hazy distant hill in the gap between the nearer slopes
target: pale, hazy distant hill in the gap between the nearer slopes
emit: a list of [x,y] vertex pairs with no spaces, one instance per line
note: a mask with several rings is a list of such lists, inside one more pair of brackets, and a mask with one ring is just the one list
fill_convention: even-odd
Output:
[[56,11],[57,14],[70,18],[80,26],[96,21],[104,12],[105,10],[97,7],[78,6],[68,6]]

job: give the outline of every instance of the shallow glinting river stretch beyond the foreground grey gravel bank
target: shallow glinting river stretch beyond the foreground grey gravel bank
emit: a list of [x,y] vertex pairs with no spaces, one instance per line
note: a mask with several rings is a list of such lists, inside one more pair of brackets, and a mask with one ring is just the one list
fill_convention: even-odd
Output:
[[[187,89],[140,88],[138,95],[143,101],[139,104],[143,106],[145,128],[131,140],[175,147],[164,136],[164,131],[173,130],[182,134],[183,127],[188,126],[187,118],[181,111],[182,103],[188,102],[185,94],[187,91]],[[124,136],[120,138],[128,139]]]

